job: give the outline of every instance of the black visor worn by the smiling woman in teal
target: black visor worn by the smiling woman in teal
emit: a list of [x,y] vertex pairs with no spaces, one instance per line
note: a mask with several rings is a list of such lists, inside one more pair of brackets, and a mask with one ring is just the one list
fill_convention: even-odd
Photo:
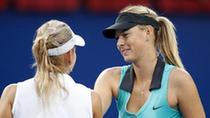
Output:
[[107,27],[103,31],[103,35],[106,38],[115,38],[115,32],[118,30],[127,30],[136,25],[151,25],[155,30],[159,30],[159,23],[152,17],[145,14],[135,14],[124,12],[119,14],[115,24]]

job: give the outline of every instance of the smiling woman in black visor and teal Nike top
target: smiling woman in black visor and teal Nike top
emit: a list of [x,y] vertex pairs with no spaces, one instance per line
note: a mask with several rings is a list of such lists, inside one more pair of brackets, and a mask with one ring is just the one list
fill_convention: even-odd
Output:
[[205,118],[190,74],[179,56],[174,25],[144,6],[122,9],[106,38],[130,65],[105,69],[95,91],[103,113],[116,99],[119,118]]

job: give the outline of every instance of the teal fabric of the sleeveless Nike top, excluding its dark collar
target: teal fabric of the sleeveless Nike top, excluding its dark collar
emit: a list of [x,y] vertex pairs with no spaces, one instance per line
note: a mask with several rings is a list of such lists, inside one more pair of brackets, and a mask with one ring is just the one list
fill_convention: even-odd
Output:
[[[129,67],[130,65],[122,67],[120,84]],[[173,67],[172,65],[165,65],[161,88],[150,92],[149,97],[138,112],[132,113],[127,111],[126,106],[131,94],[119,89],[116,100],[119,118],[182,118],[180,111],[171,108],[168,104],[168,78]],[[156,109],[153,110],[153,107]]]

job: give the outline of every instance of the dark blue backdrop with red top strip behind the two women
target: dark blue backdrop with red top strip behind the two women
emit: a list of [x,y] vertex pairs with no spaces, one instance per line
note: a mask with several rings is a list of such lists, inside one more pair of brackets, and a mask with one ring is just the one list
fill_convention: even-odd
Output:
[[[6,2],[0,0],[0,94],[8,84],[33,77],[35,73],[31,67],[33,64],[31,53],[33,35],[41,24],[51,19],[68,23],[75,33],[86,40],[85,47],[77,48],[77,63],[71,74],[75,81],[93,88],[94,82],[102,70],[126,64],[116,49],[116,42],[105,39],[101,32],[114,22],[119,9],[128,3],[113,7],[117,0],[107,2],[107,6],[104,3],[108,0],[80,0],[80,3],[73,4],[75,8],[70,6],[67,7],[68,9],[64,9],[65,7],[60,6],[49,8],[46,6],[18,6],[20,1],[26,0],[8,0]],[[77,0],[63,1],[78,2]],[[97,4],[94,6],[91,1],[93,3],[95,1]],[[170,6],[170,3],[166,3],[164,0],[159,0],[158,3],[147,0],[145,3],[136,2],[133,4],[150,6],[174,23],[177,29],[180,56],[185,68],[191,73],[197,85],[208,118],[210,117],[210,7],[204,9],[204,6],[196,3],[200,2],[199,0],[191,2],[183,0],[184,3],[188,1],[183,8],[180,7],[180,3],[168,1],[175,4],[174,6],[178,4],[179,7]],[[194,2],[198,4],[197,7],[192,7],[191,4]],[[104,7],[101,7],[101,4]],[[164,4],[170,7],[165,6],[165,8]],[[209,5],[209,0],[206,0],[205,4]],[[117,117],[114,102],[113,100],[105,118]]]

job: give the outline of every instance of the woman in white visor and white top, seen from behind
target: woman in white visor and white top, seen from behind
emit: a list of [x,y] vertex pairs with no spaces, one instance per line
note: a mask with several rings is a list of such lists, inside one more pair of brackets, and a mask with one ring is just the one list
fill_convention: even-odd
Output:
[[84,45],[64,22],[50,20],[38,28],[32,46],[36,74],[5,88],[0,118],[101,118],[100,97],[68,75],[75,46]]

